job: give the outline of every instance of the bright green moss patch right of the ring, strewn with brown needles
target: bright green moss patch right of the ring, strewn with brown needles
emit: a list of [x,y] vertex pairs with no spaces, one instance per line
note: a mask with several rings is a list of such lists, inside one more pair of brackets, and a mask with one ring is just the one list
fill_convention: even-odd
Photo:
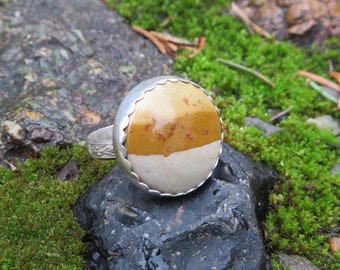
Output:
[[[307,70],[328,77],[331,60],[340,70],[340,46],[329,40],[322,47],[300,49],[289,42],[249,35],[246,27],[227,15],[226,1],[109,0],[131,24],[192,40],[206,37],[206,47],[193,59],[180,52],[175,66],[182,76],[201,84],[221,109],[226,142],[278,170],[281,182],[271,194],[267,248],[275,254],[303,255],[323,269],[339,269],[339,254],[331,254],[328,239],[340,233],[340,177],[330,167],[340,161],[339,139],[307,124],[309,117],[340,118],[334,104],[319,96],[297,75]],[[227,4],[226,4],[227,3]],[[165,27],[162,23],[172,18]],[[253,75],[216,61],[227,59],[269,77],[273,89]],[[269,138],[245,128],[245,116],[268,121],[268,108],[293,110],[280,123],[282,132]],[[279,269],[274,260],[275,269]]]

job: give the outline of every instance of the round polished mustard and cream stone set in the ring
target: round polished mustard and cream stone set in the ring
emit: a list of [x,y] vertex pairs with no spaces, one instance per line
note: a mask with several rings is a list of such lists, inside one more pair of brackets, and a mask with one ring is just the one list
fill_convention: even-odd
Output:
[[132,171],[160,193],[185,193],[201,185],[216,166],[222,143],[212,99],[182,80],[145,91],[124,132]]

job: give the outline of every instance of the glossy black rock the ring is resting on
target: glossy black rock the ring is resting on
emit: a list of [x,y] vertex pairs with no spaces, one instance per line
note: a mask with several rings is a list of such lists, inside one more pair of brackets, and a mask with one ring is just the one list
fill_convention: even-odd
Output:
[[149,195],[115,167],[75,207],[85,269],[266,269],[258,224],[275,181],[227,145],[214,177],[182,197]]

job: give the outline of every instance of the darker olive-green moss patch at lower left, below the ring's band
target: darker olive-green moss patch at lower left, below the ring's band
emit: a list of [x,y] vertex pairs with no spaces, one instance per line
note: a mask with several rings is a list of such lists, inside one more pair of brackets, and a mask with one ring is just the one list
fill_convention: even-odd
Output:
[[[61,182],[56,173],[70,158],[80,177]],[[77,146],[46,149],[16,172],[0,168],[1,269],[81,269],[83,231],[72,206],[110,166]]]

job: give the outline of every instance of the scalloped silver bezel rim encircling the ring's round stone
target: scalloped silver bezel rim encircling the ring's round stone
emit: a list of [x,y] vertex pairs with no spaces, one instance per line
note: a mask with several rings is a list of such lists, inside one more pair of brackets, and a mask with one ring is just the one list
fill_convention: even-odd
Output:
[[124,98],[122,101],[117,114],[116,118],[114,121],[113,125],[113,134],[112,134],[112,140],[113,140],[113,148],[116,156],[116,160],[118,165],[122,168],[125,176],[132,181],[135,185],[138,187],[150,192],[151,194],[157,195],[157,196],[163,196],[163,197],[175,197],[175,196],[181,196],[188,194],[200,186],[202,186],[207,179],[210,178],[214,168],[216,167],[218,163],[219,156],[222,151],[222,142],[223,142],[223,129],[222,129],[222,119],[220,117],[220,113],[218,108],[215,106],[215,109],[219,115],[220,123],[221,123],[221,146],[220,146],[220,151],[218,153],[218,156],[216,157],[216,162],[214,167],[212,168],[211,172],[209,175],[206,177],[206,179],[203,179],[201,183],[199,183],[196,187],[186,191],[186,192],[181,192],[177,194],[171,194],[171,193],[161,193],[158,190],[151,189],[147,184],[143,183],[141,179],[138,177],[138,175],[133,171],[132,164],[130,161],[127,159],[127,149],[125,148],[125,140],[126,140],[126,133],[125,129],[129,125],[130,121],[130,115],[134,113],[136,109],[136,103],[140,100],[143,99],[144,94],[148,91],[152,91],[155,89],[156,85],[162,85],[166,84],[167,82],[183,82],[183,83],[188,83],[192,84],[195,87],[201,89],[211,100],[212,104],[215,106],[213,99],[210,97],[210,95],[199,85],[180,78],[176,76],[160,76],[160,77],[154,77],[152,79],[146,80],[141,82],[140,84],[136,85],[134,88],[131,89],[129,94]]

